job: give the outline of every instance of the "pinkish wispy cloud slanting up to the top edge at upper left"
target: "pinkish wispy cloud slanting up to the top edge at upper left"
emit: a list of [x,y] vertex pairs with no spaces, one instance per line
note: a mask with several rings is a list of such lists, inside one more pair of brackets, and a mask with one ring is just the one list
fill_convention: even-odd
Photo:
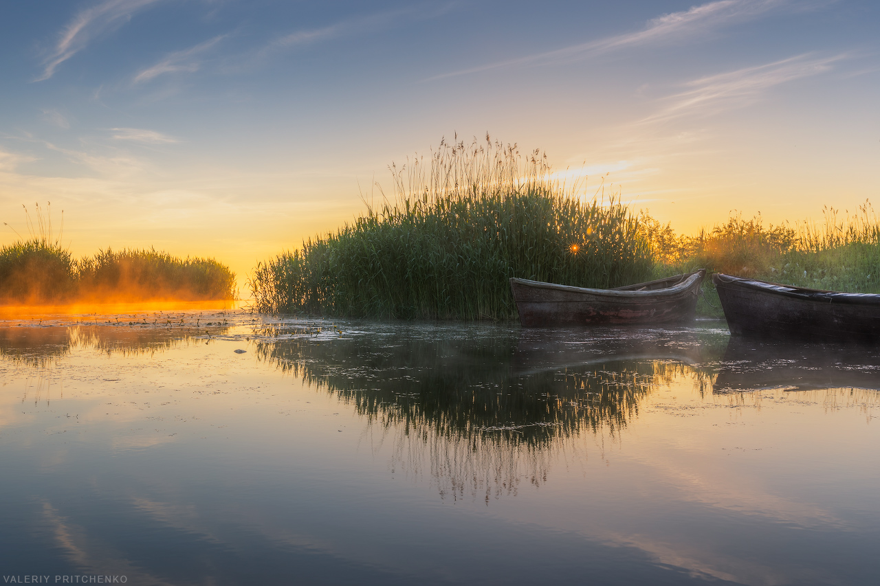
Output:
[[43,72],[34,81],[55,75],[63,62],[83,50],[99,34],[128,22],[134,12],[160,0],[106,0],[77,13],[62,29],[52,52],[43,62]]

